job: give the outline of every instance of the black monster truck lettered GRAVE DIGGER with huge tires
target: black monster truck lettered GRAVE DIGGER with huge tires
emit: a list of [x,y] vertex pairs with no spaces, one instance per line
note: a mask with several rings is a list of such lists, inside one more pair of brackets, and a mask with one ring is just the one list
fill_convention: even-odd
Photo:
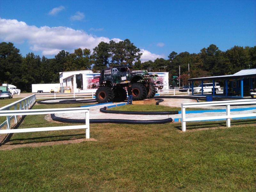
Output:
[[150,99],[156,94],[156,87],[150,83],[147,71],[134,71],[130,66],[116,66],[101,71],[96,100],[99,103],[124,101],[127,97],[124,87],[129,83],[132,85],[133,100]]

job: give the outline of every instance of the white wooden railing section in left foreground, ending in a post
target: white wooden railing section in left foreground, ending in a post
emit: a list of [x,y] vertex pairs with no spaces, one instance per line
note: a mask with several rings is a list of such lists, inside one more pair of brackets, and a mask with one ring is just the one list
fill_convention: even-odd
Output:
[[[57,127],[40,127],[40,128],[24,128],[10,129],[10,116],[22,115],[39,115],[39,114],[60,114],[60,113],[85,113],[85,125],[57,126]],[[56,108],[56,109],[30,109],[30,110],[1,110],[0,116],[6,116],[7,129],[0,130],[1,133],[21,133],[21,132],[37,132],[37,131],[55,131],[67,129],[86,129],[85,138],[90,138],[89,125],[89,108]]]

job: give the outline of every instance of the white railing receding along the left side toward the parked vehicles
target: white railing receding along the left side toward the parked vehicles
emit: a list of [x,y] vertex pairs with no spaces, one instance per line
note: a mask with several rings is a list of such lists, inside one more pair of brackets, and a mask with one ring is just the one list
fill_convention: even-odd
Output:
[[[14,110],[17,110],[17,109],[20,109],[20,110],[25,110],[25,109],[30,109],[34,103],[36,102],[36,95],[33,94],[31,96],[28,96],[24,99],[21,99],[21,100],[18,100],[18,101],[15,101],[9,105],[6,105],[4,107],[1,107],[0,108],[0,113],[2,114],[2,111],[4,110],[10,110],[12,107],[14,107]],[[22,116],[20,116],[21,118]],[[0,124],[0,128],[2,128],[7,122],[10,122],[10,120],[14,118],[14,122],[15,124],[17,124],[18,122],[18,117],[17,115],[14,115],[14,116],[8,116],[7,117],[7,120],[4,121],[3,123]]]

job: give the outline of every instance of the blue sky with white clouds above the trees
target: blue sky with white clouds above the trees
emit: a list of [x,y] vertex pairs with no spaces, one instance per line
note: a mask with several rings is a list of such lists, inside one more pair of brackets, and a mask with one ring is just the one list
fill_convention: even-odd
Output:
[[130,39],[142,61],[256,45],[256,1],[0,1],[0,40],[23,56]]

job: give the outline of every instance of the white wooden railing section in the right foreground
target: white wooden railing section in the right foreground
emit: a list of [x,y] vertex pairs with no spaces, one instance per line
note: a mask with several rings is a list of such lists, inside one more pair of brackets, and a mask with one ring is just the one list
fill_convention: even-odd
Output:
[[[245,105],[245,104],[256,104],[256,100],[244,99],[244,100],[228,100],[228,101],[210,101],[210,102],[199,102],[199,103],[181,103],[181,130],[186,131],[186,122],[189,121],[204,121],[204,120],[215,120],[215,119],[226,119],[226,126],[230,127],[230,118],[237,117],[255,117],[256,113],[251,114],[239,114],[230,115],[230,105]],[[191,107],[205,107],[205,106],[226,106],[226,115],[223,116],[208,116],[208,117],[193,117],[186,118],[186,108]]]

